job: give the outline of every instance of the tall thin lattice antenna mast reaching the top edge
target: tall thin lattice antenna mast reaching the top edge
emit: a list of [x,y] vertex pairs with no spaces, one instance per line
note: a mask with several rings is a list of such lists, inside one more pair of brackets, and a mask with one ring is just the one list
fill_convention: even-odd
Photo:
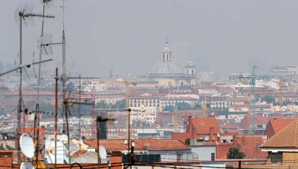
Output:
[[[63,80],[62,80],[62,83],[63,83],[63,89],[62,89],[62,94],[63,94],[63,100],[66,99],[66,80],[65,80],[65,77],[66,77],[66,70],[65,70],[65,32],[64,32],[64,8],[66,6],[64,6],[64,0],[62,0],[63,2],[63,6],[60,7],[62,8],[62,11],[63,11],[63,32],[62,32],[62,69],[63,69],[63,73],[62,73],[62,77],[63,77]],[[65,109],[66,109],[66,105],[65,103],[63,102],[63,114],[65,114]],[[63,116],[63,131],[62,131],[64,134],[66,132],[66,117],[65,115]]]

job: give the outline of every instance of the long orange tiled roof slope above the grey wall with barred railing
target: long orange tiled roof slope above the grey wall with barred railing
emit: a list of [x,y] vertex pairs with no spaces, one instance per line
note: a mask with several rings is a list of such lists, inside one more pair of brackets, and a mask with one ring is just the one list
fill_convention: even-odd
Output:
[[[137,139],[134,141],[145,149],[190,149],[188,145],[179,139]],[[148,144],[149,146],[146,146]]]

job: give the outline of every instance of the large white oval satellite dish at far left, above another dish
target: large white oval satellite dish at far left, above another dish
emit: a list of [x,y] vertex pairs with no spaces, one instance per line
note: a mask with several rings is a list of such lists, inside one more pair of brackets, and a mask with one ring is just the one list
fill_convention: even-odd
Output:
[[35,152],[34,142],[32,138],[26,133],[21,135],[20,148],[25,157],[27,157],[28,159],[32,159]]

